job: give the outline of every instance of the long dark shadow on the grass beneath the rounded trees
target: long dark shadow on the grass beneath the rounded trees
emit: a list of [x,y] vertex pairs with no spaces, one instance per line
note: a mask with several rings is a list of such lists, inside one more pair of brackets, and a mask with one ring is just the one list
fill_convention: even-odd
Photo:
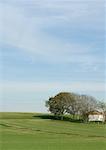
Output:
[[40,119],[50,119],[50,120],[61,120],[61,121],[68,121],[68,122],[76,122],[76,123],[82,123],[82,119],[73,119],[69,116],[63,116],[61,119],[61,116],[54,116],[50,114],[40,114],[33,116],[34,118],[40,118]]

